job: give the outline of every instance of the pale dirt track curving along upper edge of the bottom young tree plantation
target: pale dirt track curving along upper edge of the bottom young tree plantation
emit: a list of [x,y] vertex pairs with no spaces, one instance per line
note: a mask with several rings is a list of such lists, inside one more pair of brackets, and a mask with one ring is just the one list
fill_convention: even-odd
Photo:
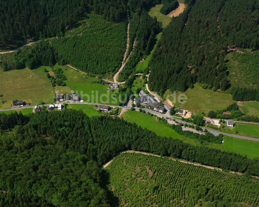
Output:
[[[122,153],[139,153],[139,154],[145,154],[145,155],[153,155],[153,156],[156,156],[156,157],[162,157],[161,155],[157,155],[157,154],[153,154],[153,153],[140,152],[140,151],[135,151],[135,150],[127,150],[127,151],[120,152],[120,153],[116,154],[115,156],[113,156],[113,158],[109,162],[107,162],[103,167],[101,167],[100,169],[106,168],[112,162],[112,160],[114,160],[114,158],[116,158],[118,155],[120,155]],[[194,166],[201,166],[201,167],[205,167],[205,168],[208,168],[208,169],[215,169],[215,170],[222,171],[221,168],[202,165],[202,164],[199,164],[199,163],[196,163],[196,162],[189,162],[189,161],[185,161],[185,160],[174,159],[174,158],[171,158],[171,157],[169,157],[169,159],[171,159],[173,161],[179,161],[179,162],[183,162],[183,163],[186,163],[186,164],[194,165]],[[227,171],[227,172],[232,173],[232,174],[238,174],[238,175],[244,174],[244,173],[233,172],[233,171]],[[258,176],[253,176],[253,177],[259,178]]]

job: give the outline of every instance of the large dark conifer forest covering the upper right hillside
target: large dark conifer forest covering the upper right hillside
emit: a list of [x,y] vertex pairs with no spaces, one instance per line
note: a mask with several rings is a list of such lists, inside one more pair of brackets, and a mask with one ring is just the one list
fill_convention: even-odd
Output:
[[256,0],[190,1],[162,33],[150,61],[150,89],[185,91],[199,82],[226,90],[224,56],[232,46],[258,46],[258,20]]

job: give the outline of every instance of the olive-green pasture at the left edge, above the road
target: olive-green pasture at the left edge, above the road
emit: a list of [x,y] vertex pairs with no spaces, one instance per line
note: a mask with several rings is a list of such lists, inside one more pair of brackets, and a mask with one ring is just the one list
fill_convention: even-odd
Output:
[[[32,77],[30,77],[32,76]],[[3,72],[0,68],[0,94],[3,93],[3,100],[8,102],[10,108],[13,100],[30,100],[28,103],[38,104],[53,102],[54,90],[44,73],[44,66],[34,70],[28,68],[21,70],[10,70]]]

